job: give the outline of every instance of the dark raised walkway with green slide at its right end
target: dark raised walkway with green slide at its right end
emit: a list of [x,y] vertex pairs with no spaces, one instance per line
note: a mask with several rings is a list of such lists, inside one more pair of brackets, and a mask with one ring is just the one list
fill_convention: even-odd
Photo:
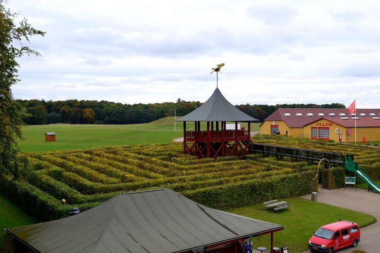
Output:
[[[318,191],[318,172],[319,165],[322,161],[328,162],[328,189],[332,189],[334,185],[334,176],[331,173],[330,163],[341,164],[347,171],[355,173],[367,185],[368,189],[380,194],[380,187],[378,187],[373,180],[368,177],[356,161],[354,161],[353,154],[342,154],[337,152],[324,152],[310,149],[290,148],[276,145],[267,145],[259,143],[251,143],[251,152],[262,153],[263,155],[276,155],[276,157],[291,157],[296,159],[306,159],[308,161],[319,160],[317,176],[312,180],[312,191]],[[322,174],[323,175],[323,174]]]

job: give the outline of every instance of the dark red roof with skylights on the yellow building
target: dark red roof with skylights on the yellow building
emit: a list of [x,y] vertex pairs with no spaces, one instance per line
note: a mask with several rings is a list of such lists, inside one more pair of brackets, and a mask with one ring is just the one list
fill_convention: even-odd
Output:
[[[289,113],[289,117],[285,117],[284,113]],[[301,113],[302,116],[297,117],[295,114]],[[309,117],[307,113],[313,113],[314,116]],[[323,116],[318,116],[318,113],[323,113]],[[335,113],[335,117],[329,117],[329,113]],[[339,113],[345,113],[349,119],[341,119]],[[365,113],[365,116],[360,116],[360,113]],[[375,116],[369,116],[369,113],[374,113]],[[364,127],[376,127],[380,126],[380,119],[373,119],[372,117],[380,117],[380,109],[356,109],[356,115],[359,119],[356,120],[356,126],[358,128]],[[355,126],[355,119],[351,117],[348,109],[335,109],[335,108],[280,108],[274,113],[269,115],[265,121],[283,120],[289,128],[303,128],[319,119],[327,119],[331,122],[343,125],[347,128]]]

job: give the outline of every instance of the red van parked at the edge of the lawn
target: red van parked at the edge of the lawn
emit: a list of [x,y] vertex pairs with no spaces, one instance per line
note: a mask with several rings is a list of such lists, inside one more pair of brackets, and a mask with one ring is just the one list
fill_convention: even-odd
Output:
[[358,224],[350,221],[338,221],[320,227],[309,240],[312,251],[328,252],[352,246],[360,241]]

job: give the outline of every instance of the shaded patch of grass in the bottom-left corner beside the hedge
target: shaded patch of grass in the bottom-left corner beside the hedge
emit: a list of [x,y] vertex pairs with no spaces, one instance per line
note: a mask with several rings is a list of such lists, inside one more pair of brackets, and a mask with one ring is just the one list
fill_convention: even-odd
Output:
[[35,220],[22,213],[21,210],[0,195],[0,252],[14,252],[4,228],[18,227],[35,223]]

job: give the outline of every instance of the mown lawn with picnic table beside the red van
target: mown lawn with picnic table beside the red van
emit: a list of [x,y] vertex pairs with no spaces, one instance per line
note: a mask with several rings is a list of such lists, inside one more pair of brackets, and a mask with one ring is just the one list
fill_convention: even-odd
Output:
[[[289,252],[308,250],[308,240],[320,226],[336,222],[338,219],[354,221],[360,227],[374,223],[373,216],[353,210],[331,206],[324,203],[293,197],[284,199],[290,203],[289,210],[280,213],[264,210],[262,204],[245,206],[228,210],[227,212],[250,218],[284,225],[285,229],[274,233],[274,246],[289,246]],[[271,235],[255,237],[253,247],[271,248]]]

